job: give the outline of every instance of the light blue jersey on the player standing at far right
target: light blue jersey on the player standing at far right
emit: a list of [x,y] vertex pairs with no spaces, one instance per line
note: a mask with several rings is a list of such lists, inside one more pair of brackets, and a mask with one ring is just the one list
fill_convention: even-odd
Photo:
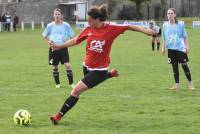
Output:
[[173,25],[169,24],[169,22],[163,24],[163,38],[166,48],[185,52],[184,38],[186,37],[184,22],[178,22]]

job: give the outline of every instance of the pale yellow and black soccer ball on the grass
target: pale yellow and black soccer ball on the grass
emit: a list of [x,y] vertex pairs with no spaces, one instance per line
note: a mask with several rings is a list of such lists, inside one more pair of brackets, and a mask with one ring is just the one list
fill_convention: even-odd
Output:
[[14,123],[18,125],[28,126],[31,123],[31,114],[27,110],[18,110],[14,114]]

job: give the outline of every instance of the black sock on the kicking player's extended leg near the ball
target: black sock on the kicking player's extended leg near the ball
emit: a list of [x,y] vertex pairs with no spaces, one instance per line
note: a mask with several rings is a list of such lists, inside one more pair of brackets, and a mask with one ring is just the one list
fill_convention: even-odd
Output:
[[61,116],[64,116],[78,101],[79,98],[76,98],[72,95],[70,95],[65,103],[63,104],[62,108],[60,109]]

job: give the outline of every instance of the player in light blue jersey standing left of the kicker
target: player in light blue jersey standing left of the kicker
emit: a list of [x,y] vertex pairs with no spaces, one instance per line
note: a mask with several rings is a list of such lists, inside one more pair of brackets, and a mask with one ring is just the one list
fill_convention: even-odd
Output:
[[69,85],[73,87],[73,73],[71,65],[69,63],[68,49],[64,48],[61,50],[53,51],[51,45],[59,45],[66,42],[68,39],[74,36],[74,32],[70,25],[62,21],[61,10],[56,8],[54,10],[54,22],[49,23],[42,35],[47,40],[49,44],[49,64],[53,65],[53,77],[56,83],[56,88],[60,88],[58,64],[64,64]]

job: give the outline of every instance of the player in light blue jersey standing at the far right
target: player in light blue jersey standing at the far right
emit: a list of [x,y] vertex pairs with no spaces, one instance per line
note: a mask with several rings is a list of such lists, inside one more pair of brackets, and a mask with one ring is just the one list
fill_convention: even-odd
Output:
[[170,89],[178,90],[180,87],[178,70],[178,64],[180,63],[188,79],[189,89],[194,90],[190,69],[187,65],[189,61],[187,56],[189,44],[184,23],[176,19],[176,10],[174,8],[168,9],[167,17],[168,22],[163,24],[164,43],[162,53],[165,53],[165,48],[168,49],[168,62],[172,64],[173,68],[175,85]]

